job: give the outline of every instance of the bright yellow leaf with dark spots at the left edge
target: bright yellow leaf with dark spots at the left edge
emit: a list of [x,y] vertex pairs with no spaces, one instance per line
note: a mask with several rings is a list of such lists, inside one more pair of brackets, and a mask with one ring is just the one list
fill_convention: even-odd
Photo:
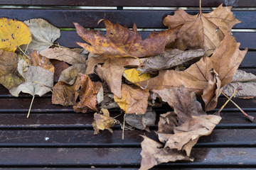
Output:
[[20,45],[31,42],[31,32],[25,23],[9,18],[0,18],[0,50],[15,52]]

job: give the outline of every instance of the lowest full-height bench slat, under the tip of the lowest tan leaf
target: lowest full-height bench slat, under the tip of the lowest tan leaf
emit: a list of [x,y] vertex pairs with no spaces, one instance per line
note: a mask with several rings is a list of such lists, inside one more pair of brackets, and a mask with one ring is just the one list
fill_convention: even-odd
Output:
[[[1,148],[0,166],[128,166],[139,167],[140,148]],[[194,162],[175,162],[161,167],[252,167],[256,165],[256,149],[195,148]]]

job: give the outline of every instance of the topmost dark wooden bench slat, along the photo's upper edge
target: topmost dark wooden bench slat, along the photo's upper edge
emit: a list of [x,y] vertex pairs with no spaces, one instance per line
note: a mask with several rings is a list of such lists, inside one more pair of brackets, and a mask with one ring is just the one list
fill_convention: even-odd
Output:
[[[202,6],[219,6],[222,4],[223,0],[213,0],[213,1],[202,1]],[[255,1],[244,0],[244,1],[225,1],[223,5],[235,6],[235,7],[255,7]],[[112,0],[1,0],[0,5],[18,5],[18,6],[187,6],[193,7],[199,6],[199,1],[196,0],[124,0],[124,1],[112,1]]]

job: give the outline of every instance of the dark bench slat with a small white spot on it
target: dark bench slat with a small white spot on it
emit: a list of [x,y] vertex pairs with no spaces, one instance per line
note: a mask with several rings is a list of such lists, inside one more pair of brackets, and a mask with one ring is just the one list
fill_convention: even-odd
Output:
[[[201,137],[196,147],[256,147],[256,129],[215,129]],[[158,141],[154,130],[0,130],[0,147],[140,147],[146,135]]]

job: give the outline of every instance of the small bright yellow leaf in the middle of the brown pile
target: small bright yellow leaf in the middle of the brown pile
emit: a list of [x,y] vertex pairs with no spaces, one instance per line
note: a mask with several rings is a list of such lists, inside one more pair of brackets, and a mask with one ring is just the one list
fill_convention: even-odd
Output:
[[142,72],[140,72],[137,69],[126,69],[124,70],[124,77],[128,81],[131,81],[132,83],[137,83],[139,81],[144,81],[147,79],[151,79],[153,76],[149,73],[144,73],[140,75]]

